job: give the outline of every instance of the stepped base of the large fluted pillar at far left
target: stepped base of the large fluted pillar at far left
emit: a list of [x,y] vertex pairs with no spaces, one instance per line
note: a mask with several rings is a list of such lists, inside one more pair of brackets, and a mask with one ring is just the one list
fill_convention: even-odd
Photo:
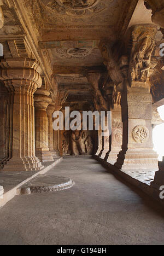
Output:
[[4,163],[3,171],[40,171],[44,168],[38,158],[11,158]]

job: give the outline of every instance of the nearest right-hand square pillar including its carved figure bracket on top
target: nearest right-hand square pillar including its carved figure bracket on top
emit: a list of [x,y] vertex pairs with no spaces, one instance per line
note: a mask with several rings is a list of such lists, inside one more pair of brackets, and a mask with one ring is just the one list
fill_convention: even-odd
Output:
[[158,168],[158,156],[153,150],[149,84],[155,34],[156,28],[153,26],[133,27],[130,84],[126,84],[121,94],[123,144],[115,164],[122,170]]

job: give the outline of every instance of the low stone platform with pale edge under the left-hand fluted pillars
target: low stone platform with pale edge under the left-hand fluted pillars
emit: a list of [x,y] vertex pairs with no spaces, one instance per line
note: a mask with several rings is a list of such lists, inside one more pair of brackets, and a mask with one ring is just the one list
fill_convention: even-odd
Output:
[[17,189],[22,187],[25,183],[36,178],[39,174],[45,174],[51,168],[61,162],[63,158],[56,158],[53,162],[44,162],[44,168],[39,172],[0,172],[0,184],[3,187],[3,193],[0,195],[0,207],[4,206],[8,201],[17,195]]

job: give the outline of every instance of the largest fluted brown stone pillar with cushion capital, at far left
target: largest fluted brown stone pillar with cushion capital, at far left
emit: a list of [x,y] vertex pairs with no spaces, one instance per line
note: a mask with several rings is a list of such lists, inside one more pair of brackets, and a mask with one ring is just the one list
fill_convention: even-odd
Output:
[[0,66],[0,79],[9,91],[4,171],[40,170],[43,166],[34,147],[33,106],[33,94],[42,85],[40,67],[28,58],[3,59]]

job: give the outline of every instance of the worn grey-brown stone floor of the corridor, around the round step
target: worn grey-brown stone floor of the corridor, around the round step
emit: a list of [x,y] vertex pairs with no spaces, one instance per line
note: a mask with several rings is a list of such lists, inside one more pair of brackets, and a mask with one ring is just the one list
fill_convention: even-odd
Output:
[[48,172],[74,187],[19,195],[0,210],[0,245],[163,245],[163,209],[96,160],[68,158]]

